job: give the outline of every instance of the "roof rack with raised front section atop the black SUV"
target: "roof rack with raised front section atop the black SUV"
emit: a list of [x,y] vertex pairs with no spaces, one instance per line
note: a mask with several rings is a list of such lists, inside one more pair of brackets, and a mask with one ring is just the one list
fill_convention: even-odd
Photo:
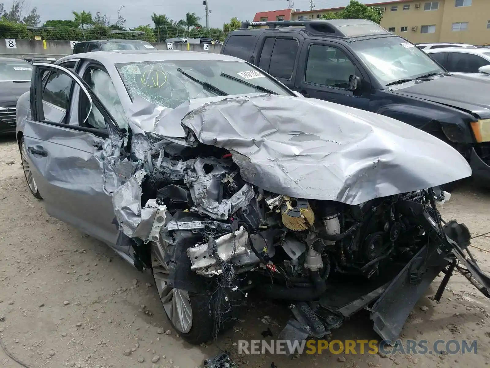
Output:
[[270,21],[270,22],[242,22],[240,29],[249,26],[277,27],[303,26],[310,33],[328,34],[329,36],[352,38],[374,34],[391,34],[385,28],[367,19],[332,19],[332,20],[304,20],[304,21]]

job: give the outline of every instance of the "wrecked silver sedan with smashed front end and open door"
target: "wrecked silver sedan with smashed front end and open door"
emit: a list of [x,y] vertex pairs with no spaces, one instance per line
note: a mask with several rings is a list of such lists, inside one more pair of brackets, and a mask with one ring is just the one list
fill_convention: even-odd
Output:
[[469,230],[437,210],[449,199],[440,185],[471,175],[440,139],[298,97],[227,55],[102,51],[33,67],[17,104],[30,191],[151,270],[186,341],[242,318],[251,292],[289,301],[293,341],[322,338],[367,306],[394,341],[456,266],[490,296],[465,254]]

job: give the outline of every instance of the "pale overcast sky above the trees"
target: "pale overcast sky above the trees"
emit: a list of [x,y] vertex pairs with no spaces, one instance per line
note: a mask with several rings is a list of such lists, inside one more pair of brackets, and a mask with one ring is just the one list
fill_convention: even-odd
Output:
[[[12,5],[11,0],[0,0],[6,9]],[[314,0],[315,9],[325,9],[346,5],[349,0]],[[363,1],[375,2],[375,1]],[[124,7],[120,15],[126,19],[127,27],[152,24],[151,14],[166,14],[168,18],[179,21],[185,18],[187,12],[194,12],[202,18],[201,24],[205,25],[205,11],[202,0],[25,0],[30,7],[37,7],[41,15],[41,24],[49,19],[73,19],[72,11],[91,12],[93,15],[100,11],[107,14],[111,21],[116,21],[118,8]],[[228,23],[231,18],[238,17],[239,20],[253,20],[255,13],[268,10],[279,10],[288,8],[288,0],[208,0],[209,26],[219,27]],[[294,0],[294,9],[301,11],[310,9],[310,0]]]

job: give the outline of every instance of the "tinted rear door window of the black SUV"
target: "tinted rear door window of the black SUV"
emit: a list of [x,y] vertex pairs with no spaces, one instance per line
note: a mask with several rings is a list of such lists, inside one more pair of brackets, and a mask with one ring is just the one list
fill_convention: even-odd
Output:
[[281,79],[291,79],[298,42],[294,39],[276,38],[270,55],[269,74]]

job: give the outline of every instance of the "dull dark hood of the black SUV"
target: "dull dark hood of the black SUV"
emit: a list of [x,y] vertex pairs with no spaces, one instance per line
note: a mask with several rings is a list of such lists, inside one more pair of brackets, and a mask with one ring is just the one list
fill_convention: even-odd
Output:
[[436,77],[406,88],[394,88],[392,92],[453,106],[481,118],[490,117],[490,79],[485,76]]

